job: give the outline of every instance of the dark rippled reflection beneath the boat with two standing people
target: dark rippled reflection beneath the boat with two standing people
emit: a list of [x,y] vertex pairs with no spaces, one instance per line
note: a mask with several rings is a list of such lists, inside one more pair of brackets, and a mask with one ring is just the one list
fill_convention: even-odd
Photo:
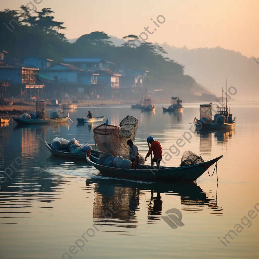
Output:
[[[95,192],[93,220],[100,225],[111,225],[126,228],[138,227],[136,212],[140,203],[147,203],[147,222],[160,220],[162,214],[162,193],[180,196],[181,204],[188,207],[185,211],[202,212],[204,207],[212,209],[212,214],[221,214],[222,207],[217,206],[217,199],[206,194],[196,183],[145,183],[121,181],[107,177],[93,177],[86,180],[87,188]],[[94,184],[94,185],[92,185]],[[217,197],[217,195],[216,195]],[[147,201],[148,200],[148,201]],[[106,218],[104,213],[106,212]],[[108,218],[108,219],[107,219]],[[152,220],[152,221],[150,221]]]

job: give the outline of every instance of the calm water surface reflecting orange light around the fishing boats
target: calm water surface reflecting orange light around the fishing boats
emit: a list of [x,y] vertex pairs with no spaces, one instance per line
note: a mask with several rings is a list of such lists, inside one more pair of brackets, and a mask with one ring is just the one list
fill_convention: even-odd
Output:
[[[190,132],[199,108],[184,106],[182,114],[163,114],[162,105],[155,113],[121,106],[91,112],[112,125],[128,114],[136,117],[136,145],[145,156],[147,136],[154,136],[168,152],[184,132]],[[94,142],[92,129],[97,125],[77,125],[75,119],[88,110],[69,112],[74,123],[54,131],[50,126],[17,127],[13,121],[1,125],[0,171],[13,170],[11,179],[0,181],[1,258],[62,258],[65,252],[63,258],[258,258],[259,215],[249,218],[251,223],[243,219],[247,226],[242,225],[233,240],[228,238],[226,247],[218,239],[259,203],[258,105],[231,105],[236,116],[233,131],[195,132],[190,143],[179,148],[180,154],[166,162],[179,166],[186,150],[205,161],[223,155],[218,185],[216,174],[209,177],[207,172],[193,184],[121,181],[100,176],[85,162],[51,157],[42,140],[52,142],[58,136]],[[181,211],[184,226],[172,229],[161,218],[170,208]],[[106,211],[108,219],[103,216]],[[71,247],[75,242],[82,248]]]

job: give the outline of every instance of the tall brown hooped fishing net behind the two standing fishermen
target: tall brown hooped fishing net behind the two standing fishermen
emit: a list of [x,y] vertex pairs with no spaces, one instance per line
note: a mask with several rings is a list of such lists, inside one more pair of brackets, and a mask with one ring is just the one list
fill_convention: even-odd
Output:
[[132,116],[125,117],[119,127],[102,124],[93,129],[93,138],[103,153],[113,156],[128,155],[130,146],[127,141],[134,141],[138,130],[138,120]]

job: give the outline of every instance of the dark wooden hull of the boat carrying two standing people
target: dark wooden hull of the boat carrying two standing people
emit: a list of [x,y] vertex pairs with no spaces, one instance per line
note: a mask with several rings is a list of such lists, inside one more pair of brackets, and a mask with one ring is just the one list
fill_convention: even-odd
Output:
[[199,178],[210,166],[221,159],[222,155],[210,161],[184,167],[160,167],[152,169],[151,166],[140,166],[137,170],[121,169],[108,166],[102,166],[93,162],[93,158],[87,157],[87,162],[99,170],[101,175],[122,178],[136,179],[143,181],[185,181],[193,182]]

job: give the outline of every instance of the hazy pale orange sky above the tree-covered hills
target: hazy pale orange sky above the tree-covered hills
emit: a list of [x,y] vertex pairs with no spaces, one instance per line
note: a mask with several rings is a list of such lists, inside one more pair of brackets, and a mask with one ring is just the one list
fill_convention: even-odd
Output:
[[[34,1],[38,10],[51,7],[55,20],[68,27],[63,31],[68,39],[93,31],[122,38],[139,35],[144,26],[152,32],[157,27],[150,19],[163,15],[165,23],[149,35],[149,42],[188,48],[221,46],[259,57],[259,0]],[[29,2],[1,0],[1,9],[20,10],[21,4]]]

